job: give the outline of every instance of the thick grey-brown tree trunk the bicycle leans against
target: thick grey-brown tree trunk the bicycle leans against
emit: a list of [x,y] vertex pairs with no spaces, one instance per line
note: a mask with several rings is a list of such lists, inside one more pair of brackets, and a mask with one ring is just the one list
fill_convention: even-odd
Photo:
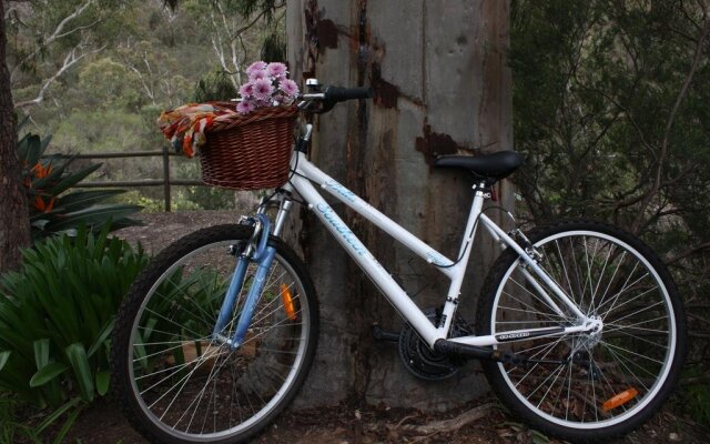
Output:
[[[325,84],[371,85],[372,101],[347,102],[316,120],[311,158],[450,259],[456,259],[473,192],[463,172],[437,171],[438,154],[510,149],[511,82],[505,53],[508,1],[288,2],[287,33],[294,78]],[[307,77],[307,75],[304,75]],[[499,188],[510,208],[511,185]],[[448,280],[342,204],[334,209],[422,309],[443,304]],[[295,241],[321,299],[316,364],[300,403],[357,403],[449,408],[487,385],[469,363],[432,383],[404,367],[396,345],[378,343],[371,326],[398,332],[404,323],[359,269],[302,211]],[[500,212],[489,213],[498,220]],[[505,224],[505,223],[504,223]],[[485,276],[497,255],[479,232],[459,313],[473,322]]]

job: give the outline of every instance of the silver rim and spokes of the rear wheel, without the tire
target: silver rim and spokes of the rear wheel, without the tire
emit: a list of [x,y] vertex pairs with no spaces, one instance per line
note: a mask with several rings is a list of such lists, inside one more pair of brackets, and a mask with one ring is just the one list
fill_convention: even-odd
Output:
[[[500,363],[508,389],[529,411],[566,427],[607,427],[643,412],[663,387],[676,352],[673,306],[660,275],[636,249],[599,232],[558,233],[536,249],[550,276],[604,330],[499,345],[539,361],[572,356],[567,365]],[[534,295],[518,265],[497,289],[491,333],[575,324],[572,315],[555,313]]]

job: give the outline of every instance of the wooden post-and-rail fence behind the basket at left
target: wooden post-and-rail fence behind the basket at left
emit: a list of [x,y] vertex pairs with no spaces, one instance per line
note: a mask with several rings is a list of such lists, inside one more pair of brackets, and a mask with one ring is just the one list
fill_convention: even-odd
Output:
[[72,159],[129,159],[129,158],[163,158],[163,178],[155,180],[134,180],[134,181],[81,181],[73,188],[142,188],[142,186],[163,186],[163,200],[165,211],[171,211],[171,185],[178,186],[206,186],[200,180],[171,179],[170,178],[170,158],[182,157],[182,154],[171,152],[168,148],[162,151],[121,151],[121,152],[103,152],[103,153],[79,153],[79,154],[59,154],[62,158]]

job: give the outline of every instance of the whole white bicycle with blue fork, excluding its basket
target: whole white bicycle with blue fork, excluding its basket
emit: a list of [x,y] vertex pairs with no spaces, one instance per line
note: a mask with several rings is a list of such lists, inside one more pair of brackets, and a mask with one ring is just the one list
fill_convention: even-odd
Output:
[[[310,84],[303,110],[325,112],[371,95]],[[670,273],[640,240],[592,221],[506,232],[481,209],[520,157],[450,155],[436,167],[469,171],[474,198],[458,256],[448,259],[311,163],[312,130],[306,125],[296,143],[288,181],[254,216],[174,242],[121,307],[112,385],[145,436],[241,442],[293,401],[318,333],[313,282],[280,239],[294,202],[307,205],[404,317],[400,353],[409,353],[414,374],[443,379],[462,360],[481,360],[507,408],[575,442],[628,433],[668,398],[687,352],[686,321]],[[439,270],[450,281],[442,306],[419,309],[316,185]],[[278,206],[273,221],[267,202]],[[473,334],[456,309],[478,226],[504,251],[485,280]]]

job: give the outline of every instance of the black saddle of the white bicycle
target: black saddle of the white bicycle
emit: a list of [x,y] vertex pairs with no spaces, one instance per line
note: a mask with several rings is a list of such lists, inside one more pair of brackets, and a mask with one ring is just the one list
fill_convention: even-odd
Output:
[[460,168],[474,175],[500,180],[510,175],[523,163],[515,151],[498,151],[484,155],[443,155],[434,161],[437,168]]

